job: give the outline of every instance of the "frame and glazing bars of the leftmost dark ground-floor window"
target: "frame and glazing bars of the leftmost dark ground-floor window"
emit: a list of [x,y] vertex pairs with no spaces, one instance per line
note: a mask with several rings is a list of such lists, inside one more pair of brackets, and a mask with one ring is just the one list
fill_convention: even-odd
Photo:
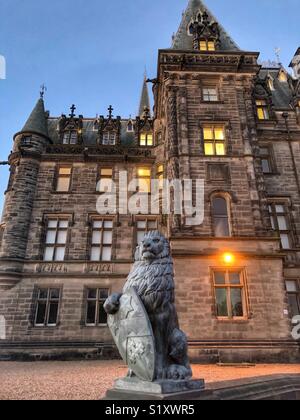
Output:
[[[40,292],[42,290],[47,290],[47,298],[42,299],[40,298]],[[53,290],[59,290],[59,297],[58,298],[51,298],[51,291]],[[36,298],[36,307],[35,307],[35,314],[34,314],[34,328],[57,328],[59,326],[59,319],[60,319],[60,309],[61,309],[61,302],[62,302],[62,292],[63,288],[62,286],[38,286],[37,291],[37,298]],[[45,316],[44,316],[44,323],[38,324],[37,323],[37,316],[39,312],[39,305],[40,304],[46,304],[45,308]],[[49,316],[50,316],[50,309],[52,304],[57,304],[57,314],[56,314],[56,323],[55,324],[49,324]]]

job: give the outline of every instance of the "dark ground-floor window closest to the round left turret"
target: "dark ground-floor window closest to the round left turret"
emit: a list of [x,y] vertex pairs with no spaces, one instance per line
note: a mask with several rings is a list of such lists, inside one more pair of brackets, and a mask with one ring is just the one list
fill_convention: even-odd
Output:
[[61,290],[39,289],[35,314],[36,327],[55,327],[58,322]]

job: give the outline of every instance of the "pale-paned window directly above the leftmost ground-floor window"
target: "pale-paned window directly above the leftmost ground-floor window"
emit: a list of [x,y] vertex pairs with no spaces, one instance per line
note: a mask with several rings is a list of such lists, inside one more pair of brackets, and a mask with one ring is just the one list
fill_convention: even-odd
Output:
[[64,261],[68,230],[68,219],[48,220],[44,261]]

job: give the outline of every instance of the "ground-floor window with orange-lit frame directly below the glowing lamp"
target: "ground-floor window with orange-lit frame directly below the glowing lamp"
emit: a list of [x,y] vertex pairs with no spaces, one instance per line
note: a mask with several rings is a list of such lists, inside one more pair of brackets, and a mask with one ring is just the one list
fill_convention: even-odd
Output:
[[224,319],[244,319],[247,317],[245,274],[235,270],[215,270],[217,317]]

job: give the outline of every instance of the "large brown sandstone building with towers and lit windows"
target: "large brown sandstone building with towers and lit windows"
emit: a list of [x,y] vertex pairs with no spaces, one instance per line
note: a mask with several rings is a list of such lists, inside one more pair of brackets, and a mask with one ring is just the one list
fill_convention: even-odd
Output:
[[[170,239],[194,360],[299,360],[300,50],[293,76],[241,50],[200,0],[158,54],[134,119],[54,118],[41,97],[9,156],[0,233],[0,357],[109,356],[103,301],[121,290],[145,231]],[[201,225],[100,215],[120,171],[205,180]],[[103,185],[102,185],[103,184]]]

